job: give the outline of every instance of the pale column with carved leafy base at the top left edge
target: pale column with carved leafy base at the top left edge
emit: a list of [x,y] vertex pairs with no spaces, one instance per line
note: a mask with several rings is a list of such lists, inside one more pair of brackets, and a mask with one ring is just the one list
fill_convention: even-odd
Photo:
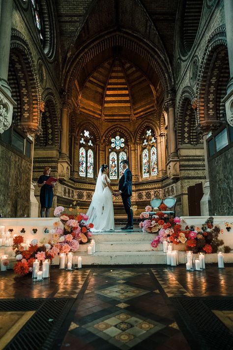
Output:
[[8,85],[8,67],[10,55],[10,35],[13,0],[0,1],[0,133],[7,130],[12,122],[13,106]]

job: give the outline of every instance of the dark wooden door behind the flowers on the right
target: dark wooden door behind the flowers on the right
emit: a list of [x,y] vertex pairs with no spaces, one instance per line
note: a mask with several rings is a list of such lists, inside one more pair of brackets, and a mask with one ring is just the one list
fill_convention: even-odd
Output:
[[203,185],[195,184],[188,187],[188,211],[189,216],[201,216],[200,201],[203,197]]

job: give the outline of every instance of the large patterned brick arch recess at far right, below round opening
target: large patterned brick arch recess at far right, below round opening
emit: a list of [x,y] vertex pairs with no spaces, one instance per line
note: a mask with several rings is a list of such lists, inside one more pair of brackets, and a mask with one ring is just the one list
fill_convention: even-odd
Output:
[[230,76],[224,27],[219,27],[211,35],[200,66],[197,84],[199,123],[221,124],[225,111],[221,100],[226,95]]

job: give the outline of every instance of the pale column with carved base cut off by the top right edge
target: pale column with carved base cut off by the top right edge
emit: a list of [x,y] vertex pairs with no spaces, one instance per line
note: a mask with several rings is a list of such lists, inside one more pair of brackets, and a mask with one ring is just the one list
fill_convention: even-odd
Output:
[[224,0],[224,14],[227,32],[227,48],[230,66],[230,80],[227,87],[227,95],[224,97],[227,121],[233,126],[233,1]]

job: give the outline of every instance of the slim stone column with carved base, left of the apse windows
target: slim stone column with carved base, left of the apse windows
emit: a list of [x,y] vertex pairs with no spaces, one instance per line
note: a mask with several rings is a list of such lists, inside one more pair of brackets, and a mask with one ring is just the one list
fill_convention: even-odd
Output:
[[58,176],[65,179],[68,179],[70,176],[71,166],[68,158],[69,114],[71,110],[71,102],[68,100],[63,100],[61,108],[61,136]]

